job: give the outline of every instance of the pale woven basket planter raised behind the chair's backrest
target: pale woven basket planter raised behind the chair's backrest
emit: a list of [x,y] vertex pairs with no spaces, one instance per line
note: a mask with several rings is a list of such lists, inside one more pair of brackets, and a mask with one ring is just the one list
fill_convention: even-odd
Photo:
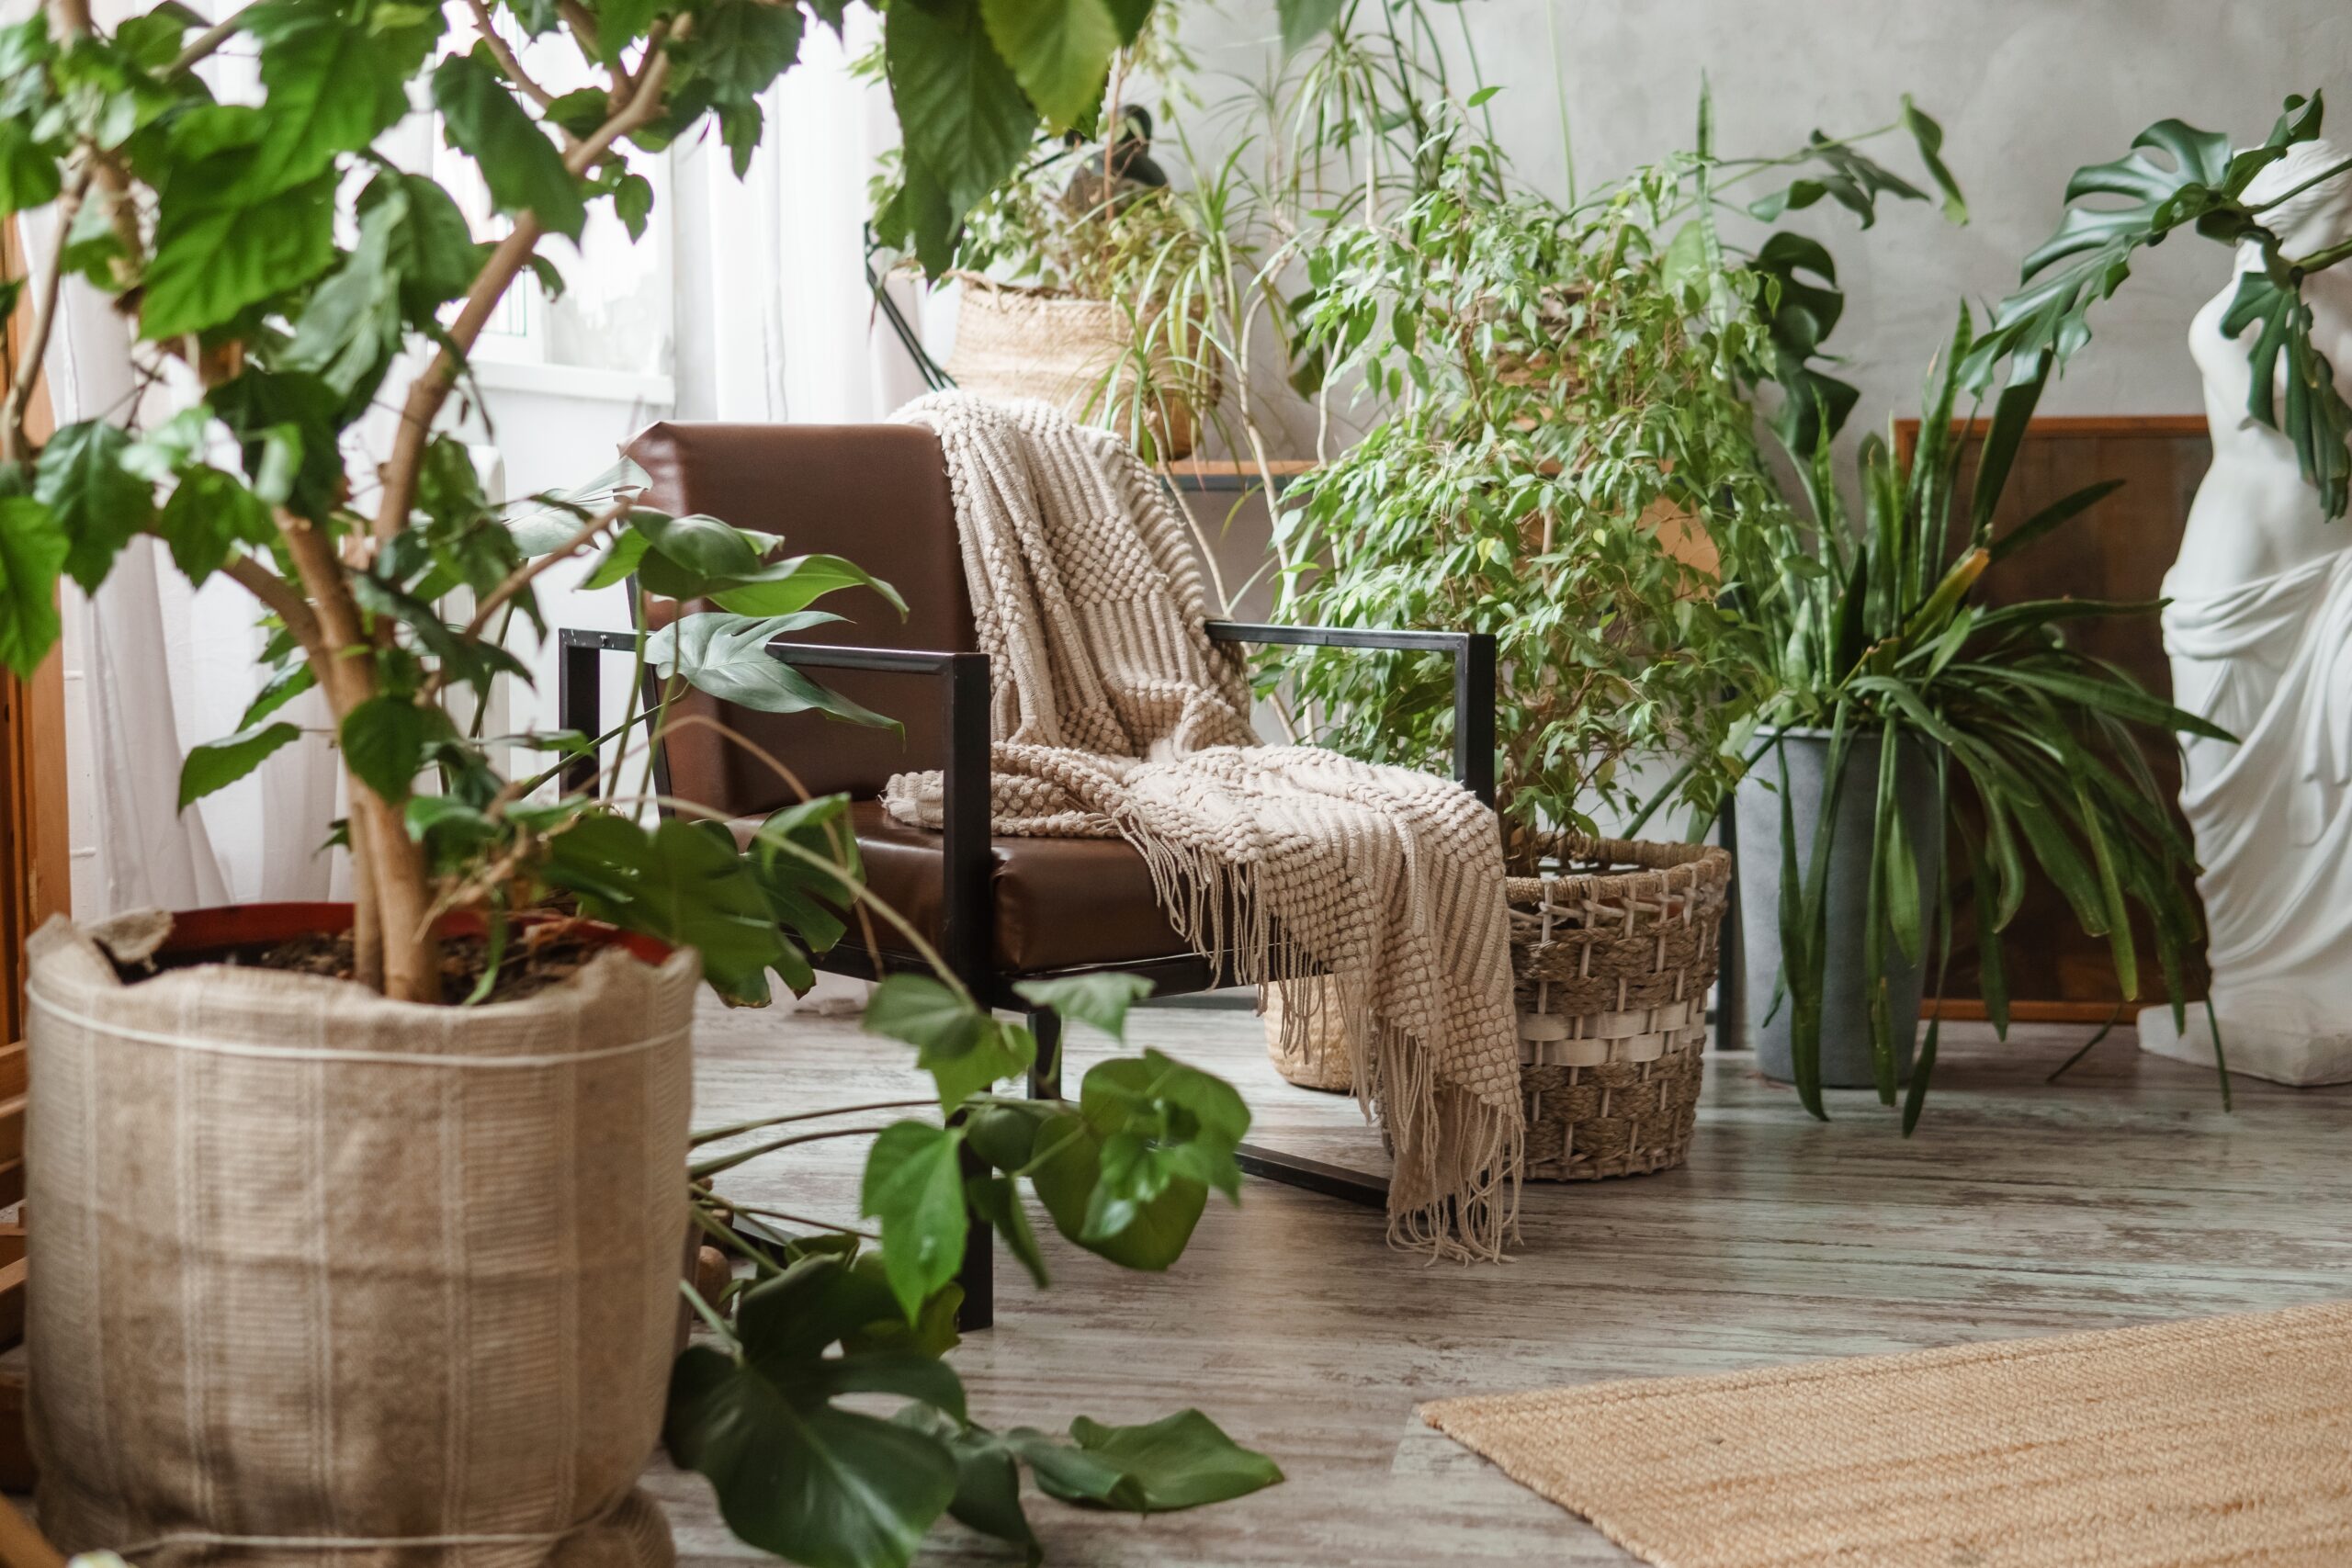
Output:
[[[957,388],[981,397],[1042,397],[1077,421],[1098,421],[1136,390],[1134,324],[1120,306],[990,282],[957,273],[964,299],[955,313],[955,353],[943,367]],[[1162,463],[1190,456],[1200,442],[1200,407],[1216,386],[1178,364],[1164,346],[1145,362],[1152,409],[1145,425]]]

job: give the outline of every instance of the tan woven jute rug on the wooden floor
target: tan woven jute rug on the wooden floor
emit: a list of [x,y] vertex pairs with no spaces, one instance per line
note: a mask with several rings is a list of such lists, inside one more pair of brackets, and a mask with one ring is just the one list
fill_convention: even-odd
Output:
[[2352,1302],[1421,1415],[1658,1568],[2352,1566]]

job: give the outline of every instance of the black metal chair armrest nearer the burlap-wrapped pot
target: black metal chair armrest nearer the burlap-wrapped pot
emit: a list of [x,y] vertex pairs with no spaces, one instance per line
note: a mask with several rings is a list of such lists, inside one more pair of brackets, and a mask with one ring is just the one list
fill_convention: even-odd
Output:
[[[637,632],[593,632],[562,628],[557,632],[555,722],[583,736],[595,736],[602,715],[597,668],[604,654],[637,651]],[[875,670],[884,675],[920,675],[938,686],[941,729],[948,733],[948,759],[941,769],[941,860],[946,872],[938,952],[974,990],[993,954],[988,882],[988,654],[948,654],[934,649],[847,649],[816,642],[767,644],[769,656],[804,670]],[[644,705],[661,701],[659,682],[644,677]],[[654,766],[661,792],[668,795],[668,764],[654,738]],[[581,757],[564,771],[564,788],[579,790],[595,778],[595,757]],[[668,813],[668,806],[663,806]]]

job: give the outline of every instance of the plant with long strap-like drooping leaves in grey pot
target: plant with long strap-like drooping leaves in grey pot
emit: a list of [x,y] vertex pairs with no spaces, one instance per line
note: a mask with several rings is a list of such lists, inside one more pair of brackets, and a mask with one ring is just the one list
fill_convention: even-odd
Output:
[[[1740,635],[1762,693],[1745,726],[1752,750],[1743,766],[1785,750],[1790,729],[1830,733],[1820,818],[1802,870],[1788,792],[1780,797],[1780,980],[1773,994],[1776,1009],[1790,1009],[1797,1093],[1823,1119],[1828,865],[1839,790],[1865,736],[1877,736],[1879,745],[1877,778],[1856,780],[1875,790],[1863,961],[1870,1056],[1886,1105],[1896,1103],[1900,1041],[1917,1027],[1896,1016],[1889,969],[1898,952],[1917,964],[1933,947],[1940,999],[1962,896],[1945,879],[1936,907],[1924,907],[1922,863],[1940,846],[1912,844],[1905,832],[1896,802],[1905,745],[1924,748],[1940,804],[1936,816],[1957,825],[1976,903],[1985,1011],[2004,1037],[2002,931],[2018,912],[2030,865],[2058,886],[2084,931],[2107,938],[2129,994],[2140,994],[2143,985],[2133,905],[2145,912],[2176,1016],[2183,1011],[2183,954],[2201,924],[2180,877],[2194,849],[2164,811],[2143,745],[2152,738],[2171,745],[2173,733],[2232,736],[2067,642],[2070,625],[2147,616],[2159,604],[2030,599],[1987,607],[1978,599],[1987,567],[2032,550],[2117,482],[2074,491],[1994,538],[1992,517],[2046,386],[2044,371],[2002,393],[1966,517],[1957,517],[1962,440],[1952,411],[1973,343],[1973,322],[1962,308],[1950,353],[1929,374],[1917,451],[1900,454],[1879,435],[1860,442],[1851,484],[1858,517],[1837,484],[1830,444],[1820,440],[1802,487],[1811,524],[1783,510],[1736,531],[1726,548],[1722,602],[1745,623]],[[1785,755],[1778,764],[1785,778]],[[1919,1044],[1903,1100],[1905,1133],[1917,1126],[1926,1098],[1936,1032],[1929,1023]]]

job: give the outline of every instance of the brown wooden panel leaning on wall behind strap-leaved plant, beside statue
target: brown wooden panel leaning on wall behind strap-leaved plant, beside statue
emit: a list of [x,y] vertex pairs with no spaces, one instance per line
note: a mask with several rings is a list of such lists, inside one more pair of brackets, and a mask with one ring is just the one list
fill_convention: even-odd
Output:
[[[1917,421],[1900,421],[1896,444],[1910,449],[1919,435]],[[1962,480],[1955,515],[1969,512],[1969,473],[1976,468],[1980,428],[1962,449]],[[2154,599],[2164,571],[2180,552],[2190,501],[2213,461],[2213,442],[2201,414],[2117,416],[2117,418],[2037,418],[2018,449],[2016,468],[1994,534],[2032,517],[2044,505],[2100,480],[2124,480],[2124,489],[2089,515],[2070,522],[2032,550],[2002,562],[1983,578],[1990,604],[2018,599]],[[2171,698],[2173,677],[2164,658],[2164,637],[2154,616],[2086,621],[2070,632],[2074,646],[2129,670],[2143,686]],[[2150,757],[2161,785],[2164,809],[2180,820],[2180,759],[2169,748]],[[2185,832],[2185,825],[2183,825]],[[2187,884],[2187,877],[2183,877]],[[2194,891],[2194,889],[2190,889]],[[2145,931],[2143,931],[2145,938]],[[2164,980],[2154,969],[2152,943],[2143,961],[2143,994],[2159,997]],[[2027,891],[2025,907],[2002,947],[2009,964],[2009,992],[2016,999],[2063,1004],[2060,1016],[2105,1016],[2122,1001],[2114,959],[2105,938],[2084,936],[2058,889],[2039,882]],[[2190,961],[2190,994],[2206,985],[2204,947]],[[1950,994],[1976,997],[1976,929],[1966,903],[1952,933]]]

